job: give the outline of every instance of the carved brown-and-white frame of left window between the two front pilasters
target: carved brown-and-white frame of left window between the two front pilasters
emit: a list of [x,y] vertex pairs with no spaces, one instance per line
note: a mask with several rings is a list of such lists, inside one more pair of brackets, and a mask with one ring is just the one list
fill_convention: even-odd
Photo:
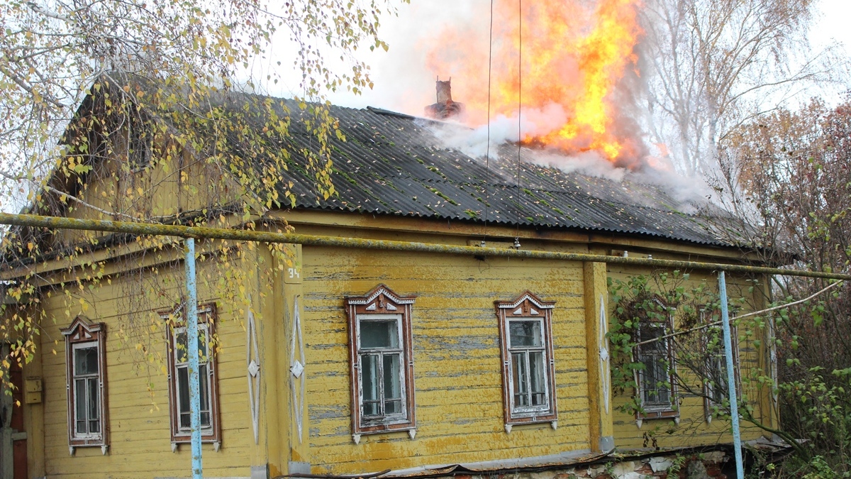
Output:
[[[349,360],[351,364],[351,436],[357,444],[364,434],[378,434],[397,430],[407,430],[414,438],[416,417],[414,414],[414,357],[411,332],[411,312],[414,296],[401,296],[385,285],[375,286],[362,297],[346,297],[346,315],[349,326]],[[392,352],[401,352],[400,385],[402,389],[403,413],[388,416],[365,417],[363,414],[362,357],[376,349],[361,348],[360,325],[365,320],[397,319],[399,348]],[[399,351],[398,349],[401,349]],[[384,349],[380,349],[383,351]],[[389,349],[388,349],[389,351]],[[383,400],[382,400],[383,401]]]

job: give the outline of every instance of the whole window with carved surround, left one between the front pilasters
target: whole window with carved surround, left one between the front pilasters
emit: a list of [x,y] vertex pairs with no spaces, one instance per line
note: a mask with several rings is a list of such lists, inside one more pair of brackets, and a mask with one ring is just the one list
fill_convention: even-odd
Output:
[[351,355],[352,439],[362,434],[408,430],[413,438],[414,359],[411,307],[387,286],[346,298]]

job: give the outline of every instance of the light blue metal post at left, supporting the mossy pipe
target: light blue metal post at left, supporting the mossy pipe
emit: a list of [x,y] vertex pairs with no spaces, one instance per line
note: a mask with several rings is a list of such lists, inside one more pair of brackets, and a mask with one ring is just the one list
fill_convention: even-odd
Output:
[[198,293],[195,282],[195,240],[186,238],[186,353],[189,355],[189,417],[192,479],[202,479],[201,395],[198,387]]

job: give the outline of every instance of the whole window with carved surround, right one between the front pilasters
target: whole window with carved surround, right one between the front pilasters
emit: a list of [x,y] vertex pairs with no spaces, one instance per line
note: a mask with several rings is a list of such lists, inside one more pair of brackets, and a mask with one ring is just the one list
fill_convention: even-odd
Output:
[[526,291],[514,301],[494,304],[500,323],[505,430],[523,423],[555,426],[551,313],[556,303]]

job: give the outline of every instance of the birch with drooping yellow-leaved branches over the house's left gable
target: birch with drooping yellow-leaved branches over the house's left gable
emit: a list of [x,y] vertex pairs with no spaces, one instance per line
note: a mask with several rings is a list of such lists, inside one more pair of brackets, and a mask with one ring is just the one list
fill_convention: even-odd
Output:
[[[368,66],[355,52],[387,49],[378,33],[380,19],[406,2],[0,3],[0,207],[45,215],[83,211],[83,216],[112,220],[253,228],[266,211],[294,203],[278,174],[294,164],[316,178],[317,195],[327,198],[334,190],[326,144],[339,132],[324,95],[336,89],[358,93],[371,88]],[[280,67],[270,57],[273,40],[296,46]],[[330,66],[328,57],[341,66]],[[301,78],[295,98],[298,112],[287,107],[292,102],[247,95],[275,84],[280,68],[289,68],[290,61]],[[253,75],[258,63],[266,65],[263,78]],[[308,125],[318,148],[287,147],[290,118],[296,116]],[[140,147],[140,142],[148,146]],[[150,158],[140,163],[139,153],[149,149]],[[176,178],[187,195],[206,203],[191,211],[154,213],[146,202],[155,188],[143,188],[134,174],[148,165],[167,168],[168,161],[181,155],[191,156],[195,171],[203,170],[204,177],[213,180],[199,188],[184,181],[182,167],[165,171],[164,177]],[[92,197],[87,190],[92,178],[106,178],[106,187],[96,193],[114,201],[105,206],[87,200]],[[221,205],[234,185],[242,193],[230,193],[236,202]],[[91,291],[111,281],[105,268],[112,260],[84,257],[86,251],[103,248],[103,239],[102,234],[86,234],[81,240],[57,232],[3,232],[0,273],[5,280],[0,292],[11,299],[0,306],[0,342],[12,343],[12,348],[0,358],[0,379],[9,361],[31,357],[43,328],[54,328],[38,306],[43,298],[64,297],[68,320],[95,307]],[[180,288],[168,290],[170,296],[163,299],[168,275],[160,272],[168,268],[140,268],[140,257],[180,258],[180,243],[163,237],[113,240],[137,243],[144,251],[123,258],[119,266],[133,271],[129,276],[135,283],[128,283],[125,291],[127,313],[117,334],[129,343],[129,351],[138,351],[142,362],[156,363],[162,357],[153,343],[161,336],[152,333],[173,321],[163,323],[151,304],[180,303]],[[215,289],[218,297],[250,306],[239,286],[248,270],[243,253],[253,247],[225,245],[199,258],[216,263],[206,272],[199,266],[199,274],[207,275],[199,282]],[[48,261],[64,262],[67,279],[44,286],[36,269]],[[173,263],[176,268],[177,260]],[[135,313],[140,311],[144,315]]]

